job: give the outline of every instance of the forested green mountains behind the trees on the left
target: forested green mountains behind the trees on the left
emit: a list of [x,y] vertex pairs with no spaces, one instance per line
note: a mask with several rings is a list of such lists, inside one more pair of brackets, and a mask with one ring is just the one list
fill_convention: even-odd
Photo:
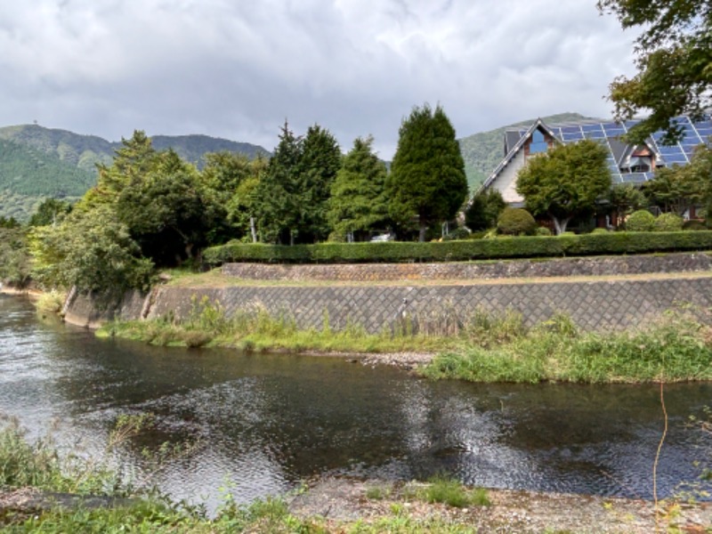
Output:
[[[157,135],[156,150],[173,148],[203,166],[208,152],[228,150],[254,158],[262,147],[207,135]],[[25,221],[47,197],[75,201],[96,183],[96,165],[110,165],[120,142],[40,125],[0,127],[0,216]]]

